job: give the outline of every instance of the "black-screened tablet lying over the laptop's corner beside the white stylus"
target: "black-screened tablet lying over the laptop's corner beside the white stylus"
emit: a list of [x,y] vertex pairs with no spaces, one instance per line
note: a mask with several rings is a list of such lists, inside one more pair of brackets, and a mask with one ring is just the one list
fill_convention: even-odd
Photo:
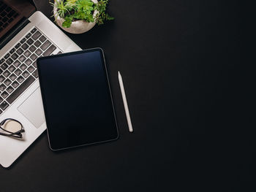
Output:
[[103,50],[37,59],[51,150],[118,139]]

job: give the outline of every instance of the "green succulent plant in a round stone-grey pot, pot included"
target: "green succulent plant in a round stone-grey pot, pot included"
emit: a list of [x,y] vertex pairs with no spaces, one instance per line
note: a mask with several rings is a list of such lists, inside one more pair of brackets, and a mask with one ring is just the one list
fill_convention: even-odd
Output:
[[82,34],[105,20],[113,20],[106,7],[108,0],[55,0],[53,16],[56,23],[72,34]]

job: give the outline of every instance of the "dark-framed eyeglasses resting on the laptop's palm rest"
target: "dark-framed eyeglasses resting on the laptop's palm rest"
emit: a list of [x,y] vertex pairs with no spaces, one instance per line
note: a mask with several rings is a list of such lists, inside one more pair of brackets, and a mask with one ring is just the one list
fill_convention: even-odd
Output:
[[22,132],[24,132],[24,129],[18,120],[7,118],[0,123],[1,135],[22,139]]

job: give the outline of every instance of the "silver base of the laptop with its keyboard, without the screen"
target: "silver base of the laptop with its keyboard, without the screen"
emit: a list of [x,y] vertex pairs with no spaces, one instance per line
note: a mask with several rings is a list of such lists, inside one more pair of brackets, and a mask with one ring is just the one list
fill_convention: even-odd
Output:
[[[18,46],[19,43],[20,45]],[[25,46],[25,43],[29,45],[29,47]],[[31,45],[34,47],[31,48]],[[18,49],[21,49],[19,50],[20,55],[17,54],[18,58],[17,55],[12,56],[14,50],[18,51]],[[29,50],[29,52],[27,50]],[[10,65],[7,64],[6,67],[2,67],[3,69],[0,68],[1,71],[3,71],[3,77],[7,76],[5,78],[9,79],[12,77],[9,80],[9,85],[6,80],[0,82],[0,85],[4,85],[0,91],[0,96],[3,99],[0,103],[0,105],[2,104],[0,107],[4,109],[1,110],[0,121],[5,118],[14,118],[19,120],[25,129],[23,139],[14,139],[0,135],[1,166],[9,167],[46,129],[37,68],[34,63],[36,58],[44,55],[55,55],[77,50],[81,50],[80,47],[78,47],[75,42],[72,42],[72,40],[46,18],[42,12],[34,12],[29,18],[29,23],[0,50],[0,60],[2,59],[2,61],[7,62],[8,58],[4,58],[7,53],[11,52],[9,58],[12,56],[12,63]],[[23,53],[21,53],[22,51]],[[42,53],[40,53],[41,51]],[[2,64],[0,64],[0,66]],[[11,66],[15,66],[15,69]],[[16,71],[17,69],[21,72],[19,72],[19,70]],[[15,72],[17,72],[17,74]],[[15,81],[18,83],[15,84]],[[5,83],[7,83],[7,85],[5,85]],[[23,88],[18,88],[20,85],[23,85],[23,83],[26,85],[24,85]],[[13,88],[15,86],[18,87]],[[4,87],[6,88],[3,90]],[[4,95],[4,92],[7,94]],[[3,98],[3,96],[5,96],[5,98]]]

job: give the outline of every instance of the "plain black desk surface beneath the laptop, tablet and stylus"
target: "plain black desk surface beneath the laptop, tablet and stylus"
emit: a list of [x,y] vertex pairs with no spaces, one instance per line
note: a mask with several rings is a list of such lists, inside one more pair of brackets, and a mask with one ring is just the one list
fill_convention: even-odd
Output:
[[255,85],[238,2],[110,0],[109,12],[113,22],[68,36],[105,50],[120,139],[53,153],[44,133],[0,169],[0,191],[251,191]]

